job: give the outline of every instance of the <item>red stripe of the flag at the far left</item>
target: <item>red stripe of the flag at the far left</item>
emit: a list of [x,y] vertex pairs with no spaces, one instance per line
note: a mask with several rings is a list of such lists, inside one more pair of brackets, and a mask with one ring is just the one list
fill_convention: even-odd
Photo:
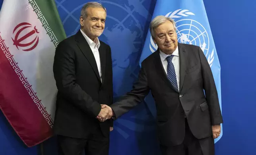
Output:
[[35,146],[52,136],[53,122],[0,36],[0,109],[21,140]]

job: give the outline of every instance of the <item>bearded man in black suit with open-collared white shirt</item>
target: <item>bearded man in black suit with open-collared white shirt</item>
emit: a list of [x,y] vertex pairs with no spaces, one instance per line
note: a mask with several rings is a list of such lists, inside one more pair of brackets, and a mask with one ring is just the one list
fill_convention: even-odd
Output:
[[81,29],[59,43],[54,57],[58,88],[54,133],[59,155],[109,154],[112,121],[96,119],[100,104],[113,102],[112,60],[109,45],[98,37],[105,28],[106,9],[89,2],[81,9]]

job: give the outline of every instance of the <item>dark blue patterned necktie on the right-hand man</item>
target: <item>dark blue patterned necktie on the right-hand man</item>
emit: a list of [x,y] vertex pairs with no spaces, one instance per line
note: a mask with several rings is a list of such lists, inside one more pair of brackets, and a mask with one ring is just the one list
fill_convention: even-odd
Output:
[[168,62],[167,65],[167,77],[171,81],[173,87],[175,87],[178,90],[178,84],[177,84],[177,78],[175,73],[175,68],[172,62],[174,55],[169,55],[166,60]]

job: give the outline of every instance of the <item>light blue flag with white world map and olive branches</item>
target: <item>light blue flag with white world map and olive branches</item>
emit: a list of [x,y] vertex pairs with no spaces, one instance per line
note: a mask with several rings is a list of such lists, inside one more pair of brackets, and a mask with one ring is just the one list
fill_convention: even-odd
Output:
[[[165,15],[175,20],[178,42],[200,46],[202,51],[204,51],[209,65],[211,66],[211,71],[213,72],[221,107],[221,67],[203,0],[157,0],[152,19],[157,15]],[[153,42],[150,32],[148,31],[140,57],[140,64],[156,50],[157,45]],[[145,98],[145,102],[152,115],[156,117],[155,103],[153,102],[151,94]],[[221,138],[222,133],[221,125],[221,135],[219,138],[215,139],[215,142]]]

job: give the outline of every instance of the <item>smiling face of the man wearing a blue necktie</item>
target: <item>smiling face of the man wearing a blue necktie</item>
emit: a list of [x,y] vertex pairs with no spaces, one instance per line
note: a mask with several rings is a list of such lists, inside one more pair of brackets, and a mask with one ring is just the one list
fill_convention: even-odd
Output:
[[154,29],[154,33],[154,43],[157,44],[159,49],[168,55],[172,54],[178,46],[177,34],[173,23],[166,21],[157,26]]

